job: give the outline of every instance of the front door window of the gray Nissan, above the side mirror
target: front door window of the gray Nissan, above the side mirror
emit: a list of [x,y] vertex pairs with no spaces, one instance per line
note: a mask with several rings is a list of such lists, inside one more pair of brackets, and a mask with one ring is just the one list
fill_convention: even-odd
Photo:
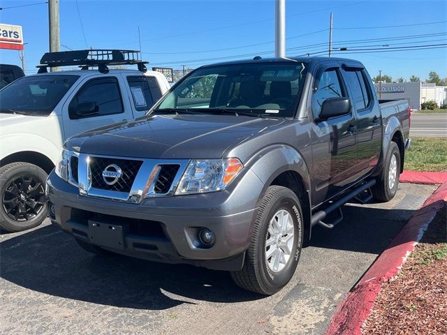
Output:
[[325,70],[318,81],[318,87],[312,95],[312,112],[314,119],[318,117],[321,105],[328,98],[339,98],[344,96],[342,84],[340,84],[338,70]]

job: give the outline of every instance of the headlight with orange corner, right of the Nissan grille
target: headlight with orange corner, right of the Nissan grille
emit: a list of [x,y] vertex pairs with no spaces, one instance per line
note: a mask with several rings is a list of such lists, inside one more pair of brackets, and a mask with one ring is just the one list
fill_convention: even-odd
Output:
[[240,172],[243,165],[237,158],[192,160],[175,195],[220,191]]

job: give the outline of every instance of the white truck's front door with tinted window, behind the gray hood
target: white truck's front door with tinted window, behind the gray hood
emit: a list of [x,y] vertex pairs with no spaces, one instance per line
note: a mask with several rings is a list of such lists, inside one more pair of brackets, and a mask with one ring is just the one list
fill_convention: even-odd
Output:
[[[123,100],[126,91],[122,91],[121,80],[115,75],[106,75],[82,82],[80,89],[68,97],[63,107],[66,138],[90,129],[132,119],[129,102]],[[97,111],[94,114],[77,117],[76,107],[81,103],[90,102],[96,103]]]

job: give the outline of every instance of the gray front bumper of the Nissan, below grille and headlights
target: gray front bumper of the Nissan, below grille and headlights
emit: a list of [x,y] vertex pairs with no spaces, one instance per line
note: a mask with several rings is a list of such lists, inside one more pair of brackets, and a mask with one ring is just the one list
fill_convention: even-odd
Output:
[[[244,262],[262,190],[261,181],[250,170],[243,179],[244,188],[148,198],[132,204],[81,196],[76,186],[52,172],[47,179],[47,200],[54,204],[52,222],[87,243],[97,244],[91,222],[116,224],[123,227],[123,246],[98,245],[147,260],[237,270]],[[214,232],[212,247],[200,245],[200,228]]]

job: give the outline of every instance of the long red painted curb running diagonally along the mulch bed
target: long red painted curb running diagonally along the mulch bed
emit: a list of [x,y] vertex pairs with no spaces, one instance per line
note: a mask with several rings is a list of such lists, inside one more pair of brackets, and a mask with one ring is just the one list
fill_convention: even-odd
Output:
[[360,335],[381,283],[397,275],[428,225],[447,201],[447,182],[441,185],[416,211],[402,231],[379,255],[358,284],[337,306],[326,335]]

